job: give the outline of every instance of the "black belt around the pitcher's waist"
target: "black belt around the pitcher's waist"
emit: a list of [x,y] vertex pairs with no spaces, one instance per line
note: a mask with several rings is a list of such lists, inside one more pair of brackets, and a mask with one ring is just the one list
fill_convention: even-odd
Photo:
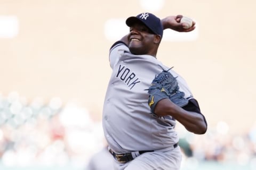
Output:
[[[179,146],[179,143],[175,143],[175,144],[173,145],[173,148],[176,148],[176,147],[178,147],[178,146]],[[131,161],[131,160],[134,159],[133,156],[132,156],[132,153],[116,154],[116,153],[115,153],[113,150],[111,150],[111,149],[109,149],[109,152],[110,152],[111,155],[114,156],[114,158],[115,158],[119,163],[125,164],[125,163],[127,163],[127,162],[129,162],[129,161]],[[141,154],[144,154],[144,153],[146,153],[146,152],[154,152],[154,150],[140,150],[140,151],[138,151],[138,152],[139,152],[139,155],[141,155]]]

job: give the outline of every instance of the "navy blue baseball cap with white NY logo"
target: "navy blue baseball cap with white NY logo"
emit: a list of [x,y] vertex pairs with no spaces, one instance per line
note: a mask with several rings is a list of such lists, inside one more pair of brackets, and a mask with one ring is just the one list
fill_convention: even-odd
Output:
[[161,20],[157,18],[154,14],[151,13],[141,13],[137,16],[131,16],[126,19],[126,25],[131,27],[134,23],[142,22],[145,24],[152,32],[156,35],[160,35],[161,38],[163,37],[163,25]]

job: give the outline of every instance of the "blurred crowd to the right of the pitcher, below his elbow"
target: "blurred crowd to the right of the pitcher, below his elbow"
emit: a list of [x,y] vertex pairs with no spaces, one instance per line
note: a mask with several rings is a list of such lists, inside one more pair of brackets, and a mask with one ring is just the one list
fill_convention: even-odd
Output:
[[180,147],[185,156],[193,157],[199,162],[250,165],[256,169],[256,126],[249,132],[232,134],[225,130],[228,127],[225,122],[219,122],[218,125],[220,129],[209,129],[204,135],[194,135],[182,130]]

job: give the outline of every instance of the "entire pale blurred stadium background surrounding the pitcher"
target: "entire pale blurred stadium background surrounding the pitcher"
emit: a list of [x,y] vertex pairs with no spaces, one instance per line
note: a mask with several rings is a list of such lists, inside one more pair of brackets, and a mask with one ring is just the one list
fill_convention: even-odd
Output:
[[[183,14],[159,60],[184,77],[209,123],[180,124],[182,169],[256,169],[256,2],[0,0],[0,169],[85,169],[105,144],[108,49],[141,12]],[[99,160],[103,164],[103,160]]]

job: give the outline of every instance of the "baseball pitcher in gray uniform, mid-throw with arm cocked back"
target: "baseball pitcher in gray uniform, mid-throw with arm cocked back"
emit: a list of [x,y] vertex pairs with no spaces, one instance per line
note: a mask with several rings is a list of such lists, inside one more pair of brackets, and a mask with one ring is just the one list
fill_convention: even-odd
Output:
[[115,169],[179,169],[176,122],[195,134],[207,130],[186,81],[156,57],[164,29],[195,29],[194,21],[184,28],[181,18],[177,15],[161,20],[151,13],[131,16],[126,20],[130,32],[110,48],[113,73],[102,121]]

